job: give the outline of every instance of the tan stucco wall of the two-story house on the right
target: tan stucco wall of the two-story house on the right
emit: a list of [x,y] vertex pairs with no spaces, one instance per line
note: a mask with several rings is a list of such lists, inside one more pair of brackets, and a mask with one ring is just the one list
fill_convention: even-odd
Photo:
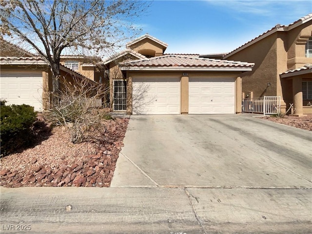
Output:
[[285,112],[289,103],[293,102],[292,84],[279,75],[312,63],[312,58],[305,57],[305,45],[311,36],[312,21],[309,21],[290,31],[277,31],[227,57],[230,60],[255,63],[252,72],[242,75],[243,93],[247,95],[253,92],[254,98],[280,96],[281,111]]

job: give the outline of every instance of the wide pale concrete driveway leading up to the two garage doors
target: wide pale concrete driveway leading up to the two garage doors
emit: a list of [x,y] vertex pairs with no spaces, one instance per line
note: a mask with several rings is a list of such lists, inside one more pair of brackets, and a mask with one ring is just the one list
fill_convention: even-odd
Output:
[[312,187],[311,142],[248,115],[131,116],[111,187]]

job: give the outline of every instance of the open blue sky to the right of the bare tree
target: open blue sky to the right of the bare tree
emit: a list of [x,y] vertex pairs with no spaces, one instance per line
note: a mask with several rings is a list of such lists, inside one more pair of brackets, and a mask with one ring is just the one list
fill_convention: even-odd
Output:
[[154,0],[138,24],[169,44],[165,53],[210,54],[310,13],[312,0]]

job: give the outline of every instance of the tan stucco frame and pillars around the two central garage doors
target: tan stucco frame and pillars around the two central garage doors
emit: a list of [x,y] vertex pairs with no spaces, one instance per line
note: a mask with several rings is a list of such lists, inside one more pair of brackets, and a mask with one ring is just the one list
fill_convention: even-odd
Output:
[[189,112],[189,78],[235,78],[235,113],[241,113],[241,73],[218,73],[218,72],[149,72],[149,71],[128,71],[127,72],[127,113],[132,114],[132,78],[170,78],[180,77],[180,114],[188,114]]

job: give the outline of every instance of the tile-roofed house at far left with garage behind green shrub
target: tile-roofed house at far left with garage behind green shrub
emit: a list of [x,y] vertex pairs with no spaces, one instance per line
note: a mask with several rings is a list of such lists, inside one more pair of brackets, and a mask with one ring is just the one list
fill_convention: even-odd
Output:
[[[36,111],[49,109],[52,92],[52,73],[45,61],[9,42],[1,40],[0,98],[8,104],[28,104]],[[81,74],[60,65],[61,76],[87,79]]]

